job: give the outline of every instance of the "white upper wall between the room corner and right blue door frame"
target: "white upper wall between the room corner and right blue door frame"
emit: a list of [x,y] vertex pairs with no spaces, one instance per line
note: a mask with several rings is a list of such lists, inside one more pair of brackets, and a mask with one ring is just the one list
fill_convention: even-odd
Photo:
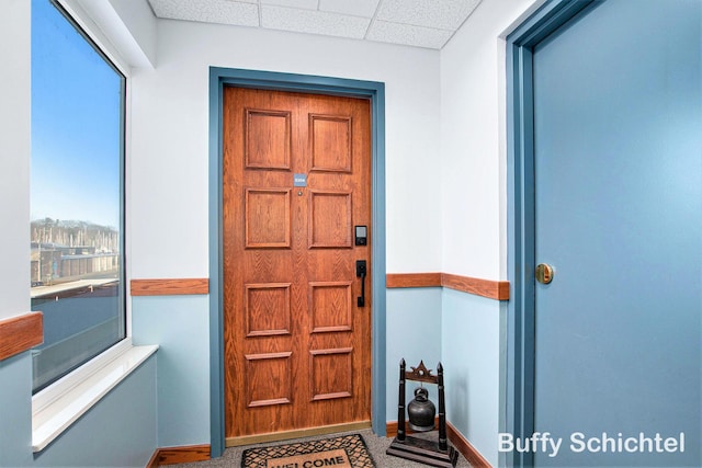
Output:
[[505,279],[503,34],[542,0],[483,0],[441,50],[442,271]]

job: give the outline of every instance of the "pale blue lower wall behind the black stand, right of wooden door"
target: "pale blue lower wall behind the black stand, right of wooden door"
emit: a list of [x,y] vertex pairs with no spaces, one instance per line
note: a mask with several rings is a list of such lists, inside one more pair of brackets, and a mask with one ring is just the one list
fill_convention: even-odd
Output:
[[[397,421],[399,359],[408,370],[441,361],[446,419],[497,466],[502,313],[500,301],[450,288],[387,289],[387,421]],[[435,386],[428,388],[438,401]]]

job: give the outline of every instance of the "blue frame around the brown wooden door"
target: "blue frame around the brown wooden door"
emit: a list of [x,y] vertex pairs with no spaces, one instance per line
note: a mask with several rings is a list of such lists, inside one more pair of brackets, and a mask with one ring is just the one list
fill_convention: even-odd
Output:
[[211,456],[225,449],[222,110],[227,85],[335,94],[371,100],[373,316],[371,419],[385,435],[385,84],[308,75],[210,68],[210,424]]

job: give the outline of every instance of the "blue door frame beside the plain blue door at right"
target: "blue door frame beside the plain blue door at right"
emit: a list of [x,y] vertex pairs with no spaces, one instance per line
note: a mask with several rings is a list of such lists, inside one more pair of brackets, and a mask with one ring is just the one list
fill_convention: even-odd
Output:
[[[534,127],[533,49],[577,15],[603,0],[550,0],[507,37],[508,274],[505,425],[529,437],[534,431]],[[533,466],[533,454],[500,454],[500,465]]]

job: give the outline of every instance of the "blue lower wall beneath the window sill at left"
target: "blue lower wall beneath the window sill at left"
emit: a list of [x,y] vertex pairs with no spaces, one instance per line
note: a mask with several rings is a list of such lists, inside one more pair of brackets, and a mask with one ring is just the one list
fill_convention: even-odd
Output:
[[157,448],[157,355],[39,454],[32,454],[32,358],[0,362],[0,466],[139,467]]

